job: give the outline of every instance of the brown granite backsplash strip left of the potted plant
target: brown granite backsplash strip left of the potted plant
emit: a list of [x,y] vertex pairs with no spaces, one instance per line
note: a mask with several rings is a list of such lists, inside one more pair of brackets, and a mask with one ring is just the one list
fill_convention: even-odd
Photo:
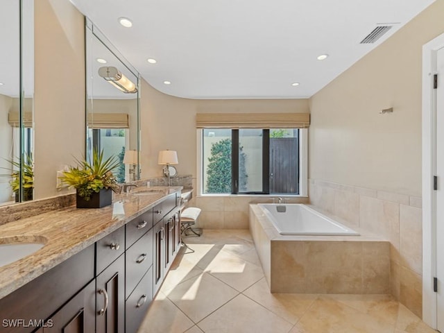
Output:
[[76,205],[76,194],[0,206],[0,225]]

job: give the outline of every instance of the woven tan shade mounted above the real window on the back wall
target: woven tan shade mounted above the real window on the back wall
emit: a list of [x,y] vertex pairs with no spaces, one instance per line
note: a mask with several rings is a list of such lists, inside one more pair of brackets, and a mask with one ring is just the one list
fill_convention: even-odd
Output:
[[309,113],[198,113],[197,128],[308,128]]

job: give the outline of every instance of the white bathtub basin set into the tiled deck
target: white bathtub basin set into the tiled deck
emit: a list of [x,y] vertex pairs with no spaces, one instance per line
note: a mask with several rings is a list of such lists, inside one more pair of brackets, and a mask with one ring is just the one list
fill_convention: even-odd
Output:
[[258,206],[280,234],[359,236],[359,233],[298,203],[259,203]]

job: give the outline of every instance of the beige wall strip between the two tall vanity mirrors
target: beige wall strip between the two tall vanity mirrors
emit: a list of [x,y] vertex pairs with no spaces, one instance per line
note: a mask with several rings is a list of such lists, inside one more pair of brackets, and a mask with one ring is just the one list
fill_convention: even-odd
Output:
[[85,154],[85,23],[69,1],[35,1],[35,198]]

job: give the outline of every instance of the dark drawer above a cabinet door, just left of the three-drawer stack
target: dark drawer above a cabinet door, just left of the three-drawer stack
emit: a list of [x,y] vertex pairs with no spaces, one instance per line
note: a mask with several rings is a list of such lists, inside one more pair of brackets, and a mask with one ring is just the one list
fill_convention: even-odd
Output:
[[107,268],[125,250],[125,226],[96,241],[96,275]]

